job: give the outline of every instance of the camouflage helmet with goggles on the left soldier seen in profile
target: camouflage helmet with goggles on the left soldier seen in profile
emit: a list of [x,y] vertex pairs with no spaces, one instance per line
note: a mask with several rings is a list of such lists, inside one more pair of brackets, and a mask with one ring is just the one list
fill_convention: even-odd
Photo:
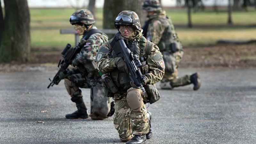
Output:
[[93,24],[95,20],[91,11],[86,9],[81,9],[81,10],[77,10],[71,15],[69,22],[72,25],[79,22],[84,23],[85,25],[90,25],[90,24]]

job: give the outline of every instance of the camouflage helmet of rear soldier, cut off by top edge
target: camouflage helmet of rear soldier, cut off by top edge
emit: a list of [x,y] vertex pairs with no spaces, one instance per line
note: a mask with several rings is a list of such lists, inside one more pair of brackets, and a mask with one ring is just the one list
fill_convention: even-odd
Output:
[[162,10],[162,5],[159,0],[146,0],[142,3],[142,9],[147,12]]

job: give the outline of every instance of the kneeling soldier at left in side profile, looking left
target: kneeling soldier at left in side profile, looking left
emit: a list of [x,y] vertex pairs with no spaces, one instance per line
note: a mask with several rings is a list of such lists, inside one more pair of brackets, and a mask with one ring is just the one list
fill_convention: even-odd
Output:
[[[97,29],[92,24],[95,22],[92,13],[89,10],[81,9],[72,14],[70,23],[75,26],[78,35],[88,34],[91,29]],[[103,33],[94,33],[87,40],[81,40],[84,47],[72,61],[75,67],[67,71],[67,74],[60,73],[60,79],[64,79],[65,87],[71,100],[76,103],[77,111],[67,114],[66,118],[88,118],[88,111],[84,104],[82,91],[79,88],[91,89],[91,114],[92,119],[108,118],[110,103],[108,98],[104,97],[104,90],[100,73],[95,63],[95,57],[99,47],[108,41],[108,36]]]

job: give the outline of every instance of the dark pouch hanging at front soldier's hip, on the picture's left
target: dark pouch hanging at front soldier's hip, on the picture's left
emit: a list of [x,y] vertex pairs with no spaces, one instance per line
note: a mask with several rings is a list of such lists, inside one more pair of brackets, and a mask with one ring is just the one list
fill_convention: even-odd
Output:
[[104,87],[104,93],[105,97],[113,97],[114,93],[118,91],[116,88],[116,85],[113,83],[111,76],[108,74],[103,74],[101,76],[103,87]]

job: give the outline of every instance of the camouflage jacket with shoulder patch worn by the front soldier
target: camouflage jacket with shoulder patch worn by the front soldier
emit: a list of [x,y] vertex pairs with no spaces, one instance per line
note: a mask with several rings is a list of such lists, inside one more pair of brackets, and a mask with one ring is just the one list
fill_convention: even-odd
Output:
[[[140,45],[140,37],[141,35],[136,36],[136,38],[133,39],[133,41],[138,41]],[[146,38],[144,38],[144,40],[146,41],[146,47],[147,47],[148,44],[151,42],[148,41]],[[110,45],[111,41],[112,39],[100,46],[100,50],[98,53],[102,53],[103,56],[96,58],[96,61],[98,61],[98,70],[104,74],[114,72],[114,71],[119,71],[115,63],[115,58],[117,57],[117,55],[114,54],[114,56],[113,57],[111,56],[110,58],[110,54],[111,52],[113,52],[112,47]],[[130,43],[132,43],[133,41],[130,41]],[[129,43],[129,40],[128,40],[128,43]],[[140,55],[138,56],[140,57]],[[164,61],[162,59],[162,54],[159,51],[159,48],[156,46],[156,44],[152,43],[152,50],[150,54],[147,55],[147,53],[144,51],[143,57],[144,57],[144,60],[146,61],[146,65],[148,65],[148,73],[145,75],[146,84],[155,84],[159,82],[164,76]],[[114,100],[126,99],[126,97],[124,97],[125,95],[126,93],[123,93],[123,94],[115,93],[113,99]]]

